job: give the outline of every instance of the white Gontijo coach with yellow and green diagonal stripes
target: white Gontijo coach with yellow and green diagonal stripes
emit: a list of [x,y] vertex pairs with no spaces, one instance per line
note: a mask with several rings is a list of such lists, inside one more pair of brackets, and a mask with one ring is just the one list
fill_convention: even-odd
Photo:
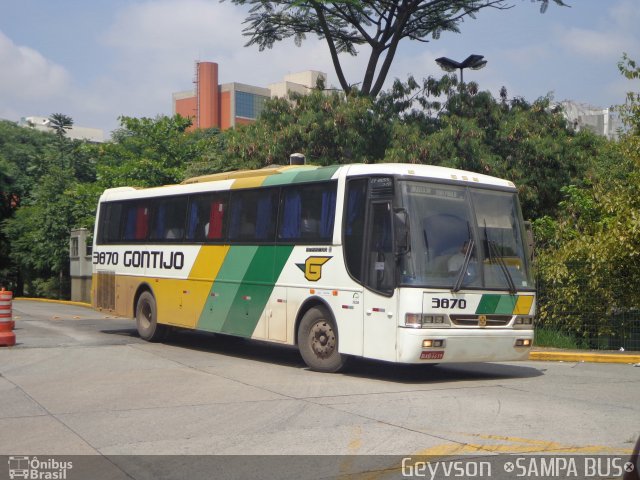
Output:
[[526,359],[535,285],[513,183],[449,168],[285,166],[100,197],[93,304],[297,345],[307,365]]

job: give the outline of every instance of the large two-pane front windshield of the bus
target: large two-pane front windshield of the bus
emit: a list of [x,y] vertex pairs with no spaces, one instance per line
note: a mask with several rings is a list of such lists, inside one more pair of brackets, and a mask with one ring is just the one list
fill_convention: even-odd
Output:
[[515,192],[401,181],[410,248],[400,284],[465,289],[534,289]]

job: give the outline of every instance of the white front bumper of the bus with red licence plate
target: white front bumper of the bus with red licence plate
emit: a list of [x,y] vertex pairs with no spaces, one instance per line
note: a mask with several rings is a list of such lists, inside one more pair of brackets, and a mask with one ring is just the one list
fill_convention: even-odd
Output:
[[400,363],[527,360],[533,330],[399,328]]

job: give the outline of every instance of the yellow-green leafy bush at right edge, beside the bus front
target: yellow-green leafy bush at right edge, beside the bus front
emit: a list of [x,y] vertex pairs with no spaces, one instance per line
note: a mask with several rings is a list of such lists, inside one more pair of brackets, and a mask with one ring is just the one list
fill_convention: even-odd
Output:
[[[626,71],[640,78],[637,69]],[[546,326],[597,338],[614,333],[612,319],[640,309],[639,100],[627,96],[623,112],[631,128],[604,149],[591,184],[563,188],[557,218],[534,225],[543,247],[537,266]]]

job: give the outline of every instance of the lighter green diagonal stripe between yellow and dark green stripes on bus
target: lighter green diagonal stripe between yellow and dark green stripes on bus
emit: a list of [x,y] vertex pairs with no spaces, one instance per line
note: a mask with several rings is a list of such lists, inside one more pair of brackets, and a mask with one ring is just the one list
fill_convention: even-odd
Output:
[[221,331],[240,289],[242,279],[245,277],[257,250],[258,247],[251,246],[238,246],[229,249],[198,319],[198,329],[209,332]]

